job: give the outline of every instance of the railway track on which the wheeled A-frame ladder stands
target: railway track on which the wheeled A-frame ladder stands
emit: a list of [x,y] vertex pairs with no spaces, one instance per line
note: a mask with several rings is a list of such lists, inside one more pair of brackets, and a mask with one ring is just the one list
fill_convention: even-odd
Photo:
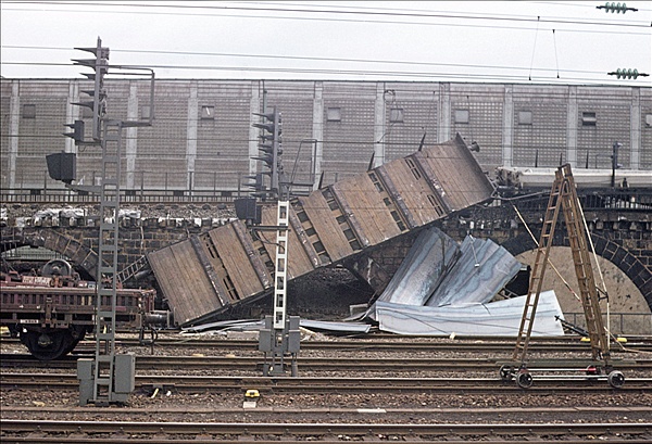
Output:
[[[613,393],[613,389],[593,376],[535,376],[528,392],[537,393]],[[76,390],[79,381],[71,373],[1,373],[2,390],[68,389]],[[136,386],[143,390],[215,391],[259,390],[261,393],[347,393],[347,392],[424,392],[491,394],[521,393],[513,382],[499,378],[319,378],[319,377],[224,377],[224,376],[136,376]],[[652,393],[652,378],[630,378],[618,392]]]

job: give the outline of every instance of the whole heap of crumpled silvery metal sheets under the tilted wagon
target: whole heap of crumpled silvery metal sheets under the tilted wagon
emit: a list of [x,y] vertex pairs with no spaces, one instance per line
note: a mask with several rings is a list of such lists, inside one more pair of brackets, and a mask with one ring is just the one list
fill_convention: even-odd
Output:
[[[521,263],[491,240],[461,245],[437,228],[424,230],[375,304],[363,315],[380,330],[418,335],[516,335],[525,296],[491,302]],[[532,334],[563,334],[553,291],[542,292]]]

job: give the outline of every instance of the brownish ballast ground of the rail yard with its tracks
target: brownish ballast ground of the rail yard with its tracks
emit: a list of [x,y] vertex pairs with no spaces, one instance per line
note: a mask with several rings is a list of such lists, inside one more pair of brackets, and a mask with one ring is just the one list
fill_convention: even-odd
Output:
[[[36,388],[23,388],[18,383],[9,382],[10,376],[25,375],[27,379],[38,381],[37,373],[51,377],[52,381],[63,381],[75,370],[61,363],[42,365],[35,363],[15,366],[9,358],[2,364],[2,385],[0,406],[2,409],[2,441],[26,439],[29,434],[15,432],[21,423],[15,420],[27,420],[28,423],[38,426],[39,432],[32,432],[34,439],[60,439],[75,435],[78,439],[101,439],[106,433],[101,431],[85,431],[87,421],[109,421],[115,423],[116,432],[121,429],[123,434],[130,430],[127,423],[147,422],[167,424],[172,423],[240,423],[242,436],[263,442],[266,439],[285,439],[325,441],[410,441],[415,437],[424,440],[484,440],[493,436],[494,440],[509,441],[509,435],[494,432],[496,435],[480,433],[479,424],[532,424],[528,440],[540,441],[567,441],[574,439],[599,439],[603,441],[644,442],[652,439],[652,367],[650,360],[649,339],[632,339],[626,344],[627,351],[614,348],[614,357],[630,363],[631,367],[624,368],[626,382],[623,390],[611,389],[606,381],[587,383],[581,380],[564,380],[563,383],[538,381],[530,390],[522,390],[511,382],[500,381],[498,364],[509,359],[513,341],[509,339],[450,339],[450,338],[397,338],[380,335],[373,338],[328,338],[314,334],[304,338],[299,355],[300,383],[293,388],[284,388],[283,382],[291,380],[290,377],[263,378],[256,360],[263,361],[263,356],[258,352],[255,341],[233,339],[233,337],[215,335],[180,335],[165,333],[154,347],[135,345],[134,338],[122,337],[118,342],[120,353],[134,353],[137,355],[137,389],[129,397],[126,405],[110,407],[79,407],[78,391],[73,385],[58,385],[54,382],[36,384]],[[237,337],[237,335],[236,335]],[[329,345],[330,344],[330,345]],[[428,345],[431,345],[430,347]],[[91,350],[92,343],[83,344],[84,350]],[[586,350],[582,350],[586,348]],[[24,355],[24,347],[7,338],[1,342],[2,356]],[[160,363],[148,367],[148,359],[152,355]],[[590,351],[584,347],[579,338],[550,339],[532,341],[532,359],[569,359],[588,358]],[[184,366],[179,359],[198,360],[202,358],[224,358],[222,364],[211,366]],[[177,359],[175,363],[172,360]],[[311,363],[302,367],[302,359]],[[329,361],[329,366],[319,368],[319,359]],[[419,359],[429,361],[427,366],[411,367]],[[165,361],[171,360],[170,366]],[[360,365],[354,361],[359,360]],[[399,363],[405,363],[401,368]],[[141,361],[141,364],[139,364]],[[240,363],[241,361],[241,363]],[[252,364],[252,361],[254,364]],[[341,369],[334,369],[333,364],[341,361]],[[384,368],[381,363],[387,363]],[[447,361],[446,366],[436,365],[437,361]],[[474,363],[477,361],[477,365]],[[231,364],[225,364],[231,363]],[[240,364],[238,364],[240,363]],[[316,364],[317,363],[317,364]],[[343,364],[348,363],[348,364]],[[455,365],[455,363],[457,365]],[[488,365],[492,363],[493,365]],[[634,363],[638,363],[638,366]],[[482,365],[480,365],[482,364]],[[11,366],[11,367],[10,367]],[[188,386],[184,377],[220,378],[233,377],[234,382],[224,386],[214,382],[213,385]],[[172,382],[156,385],[148,381],[151,377],[168,377]],[[171,377],[171,378],[170,378]],[[176,382],[175,382],[175,378]],[[341,384],[341,389],[324,388],[324,378]],[[378,380],[380,378],[400,379],[404,381],[401,386],[393,390],[386,386],[383,390],[365,388],[358,382],[347,386],[343,381],[348,378],[360,380]],[[275,380],[276,379],[276,380]],[[419,380],[422,388],[418,386]],[[423,381],[439,381],[439,389],[430,388]],[[321,381],[322,388],[316,381]],[[394,382],[392,382],[396,384]],[[313,384],[311,386],[311,384]],[[328,385],[326,383],[326,385]],[[416,386],[414,386],[416,385]],[[447,388],[448,385],[448,388]],[[629,385],[629,386],[628,386]],[[482,389],[484,386],[484,389]],[[459,388],[459,389],[455,389]],[[636,388],[636,389],[635,389]],[[156,390],[158,389],[158,390]],[[625,390],[626,389],[626,390]],[[260,398],[253,408],[243,408],[244,392],[260,390]],[[46,429],[53,427],[47,421],[78,422],[67,434],[53,434]],[[303,432],[269,432],[259,434],[254,424],[283,423],[290,424],[369,424],[367,433],[349,431],[338,433],[337,427],[331,428],[331,433],[303,434]],[[599,432],[570,432],[563,433],[537,432],[535,426],[559,424],[560,430],[569,424],[613,424],[612,430]],[[18,424],[18,426],[17,426]],[[99,424],[99,422],[98,422]],[[247,424],[250,424],[249,428]],[[461,431],[439,436],[436,431],[418,433],[384,434],[381,429],[376,433],[374,427],[388,424],[413,424],[414,428],[428,424],[478,424],[476,435]],[[629,432],[619,432],[618,424],[637,427]],[[26,427],[26,426],[25,426]],[[180,427],[180,426],[179,426]],[[215,426],[216,427],[216,426]],[[292,426],[294,427],[294,426]],[[316,427],[316,426],[315,426]],[[244,431],[247,429],[247,432]],[[161,429],[163,430],[163,429]],[[451,429],[452,430],[452,429]],[[570,429],[568,429],[570,430]],[[624,429],[623,429],[624,430]],[[35,434],[36,433],[36,434]],[[187,436],[180,431],[159,431],[156,433],[134,431],[131,437],[149,436],[150,439],[170,439],[171,436]],[[305,432],[308,433],[308,432]],[[334,436],[333,433],[336,435]],[[369,434],[371,433],[371,434]],[[519,432],[523,433],[523,432]],[[118,433],[120,434],[120,433]],[[110,435],[110,434],[109,434]],[[195,439],[235,439],[233,433],[211,431],[201,428],[189,433]],[[371,436],[373,435],[373,436]],[[43,437],[45,436],[45,437]],[[79,437],[83,436],[83,437]],[[158,436],[158,437],[156,437]],[[240,439],[242,437],[240,436]],[[267,436],[265,439],[265,436]],[[439,437],[437,437],[439,436]],[[74,436],[73,436],[74,437]],[[523,437],[523,436],[522,436]],[[261,441],[262,440],[262,441]],[[643,441],[641,441],[643,440]],[[516,440],[518,441],[518,440]],[[24,441],[23,441],[24,442]],[[47,442],[47,441],[43,441]],[[72,442],[72,441],[71,441]],[[200,442],[200,441],[195,441]]]

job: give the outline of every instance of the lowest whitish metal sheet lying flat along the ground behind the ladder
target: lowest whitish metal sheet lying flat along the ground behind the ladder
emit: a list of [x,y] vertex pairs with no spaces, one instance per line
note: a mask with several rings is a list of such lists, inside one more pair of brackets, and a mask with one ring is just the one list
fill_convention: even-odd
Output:
[[[526,296],[489,304],[426,307],[377,302],[379,329],[406,335],[517,335]],[[563,335],[563,313],[554,291],[541,292],[532,335]]]

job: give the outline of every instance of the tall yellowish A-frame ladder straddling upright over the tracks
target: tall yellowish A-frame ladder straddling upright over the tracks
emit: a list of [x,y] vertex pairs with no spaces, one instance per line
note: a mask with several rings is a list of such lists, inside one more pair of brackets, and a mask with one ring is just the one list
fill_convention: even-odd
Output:
[[528,344],[560,208],[564,213],[573,263],[579,283],[580,300],[587,321],[587,331],[591,341],[591,354],[593,359],[602,359],[605,367],[609,368],[611,366],[609,340],[604,330],[598,290],[593,269],[591,268],[584,215],[577,198],[575,179],[568,164],[559,167],[555,172],[512,360],[521,361],[522,368],[526,367]]

